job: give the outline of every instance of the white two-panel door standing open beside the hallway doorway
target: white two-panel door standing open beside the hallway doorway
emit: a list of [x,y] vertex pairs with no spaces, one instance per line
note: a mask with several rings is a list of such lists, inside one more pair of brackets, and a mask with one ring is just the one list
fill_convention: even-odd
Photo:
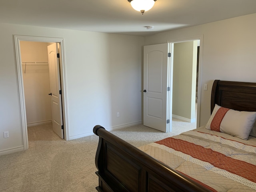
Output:
[[167,43],[144,46],[144,125],[163,132],[171,124],[168,62]]

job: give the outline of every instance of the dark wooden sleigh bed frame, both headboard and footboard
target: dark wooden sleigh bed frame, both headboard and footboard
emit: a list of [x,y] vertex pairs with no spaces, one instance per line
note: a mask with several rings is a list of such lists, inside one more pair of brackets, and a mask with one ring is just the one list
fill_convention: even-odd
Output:
[[[215,80],[211,114],[215,104],[238,111],[256,111],[256,83]],[[99,136],[95,164],[98,192],[203,192],[212,191],[192,178],[156,160],[97,125]]]

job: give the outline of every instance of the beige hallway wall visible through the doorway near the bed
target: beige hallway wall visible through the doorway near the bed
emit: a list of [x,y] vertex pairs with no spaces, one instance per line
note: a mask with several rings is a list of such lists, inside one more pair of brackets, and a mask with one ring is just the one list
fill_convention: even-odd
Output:
[[197,42],[174,44],[172,114],[195,121]]

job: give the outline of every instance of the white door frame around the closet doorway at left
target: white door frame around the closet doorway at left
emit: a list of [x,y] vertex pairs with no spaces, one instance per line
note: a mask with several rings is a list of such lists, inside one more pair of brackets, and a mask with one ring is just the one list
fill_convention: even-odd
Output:
[[22,125],[22,139],[24,150],[28,149],[28,128],[26,120],[26,106],[24,85],[22,76],[22,60],[20,53],[20,41],[33,41],[33,42],[52,42],[59,43],[60,45],[60,81],[62,90],[62,113],[63,113],[63,126],[64,126],[64,138],[69,140],[68,132],[68,105],[67,105],[67,93],[66,93],[66,68],[65,68],[65,51],[64,51],[64,38],[51,38],[51,37],[37,37],[37,36],[20,36],[14,35],[14,46],[16,54],[16,67],[18,75],[18,91],[20,96],[20,114]]

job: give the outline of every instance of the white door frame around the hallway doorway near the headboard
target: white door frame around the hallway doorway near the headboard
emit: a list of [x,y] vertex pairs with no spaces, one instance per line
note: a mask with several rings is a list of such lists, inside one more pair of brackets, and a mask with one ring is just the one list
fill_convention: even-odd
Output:
[[[203,35],[196,35],[196,36],[170,39],[170,40],[167,40],[167,42],[170,45],[169,47],[170,47],[170,53],[171,53],[171,75],[172,75],[173,74],[174,43],[188,42],[188,41],[194,41],[194,40],[200,40],[199,64],[198,64],[198,98],[197,98],[197,115],[196,115],[196,128],[198,128],[199,124],[200,124]],[[171,90],[172,90],[172,84],[173,84],[173,81],[172,81],[172,78],[170,78],[170,89]]]

